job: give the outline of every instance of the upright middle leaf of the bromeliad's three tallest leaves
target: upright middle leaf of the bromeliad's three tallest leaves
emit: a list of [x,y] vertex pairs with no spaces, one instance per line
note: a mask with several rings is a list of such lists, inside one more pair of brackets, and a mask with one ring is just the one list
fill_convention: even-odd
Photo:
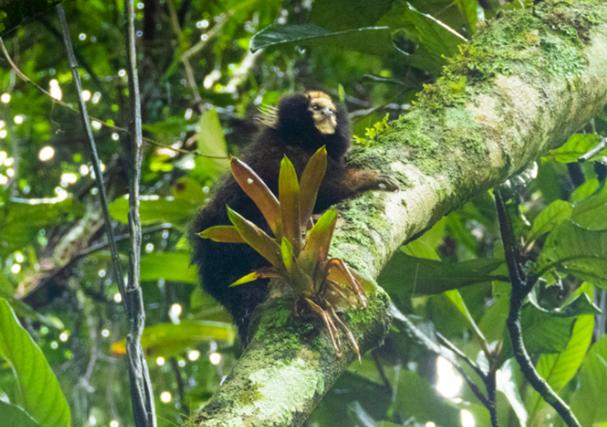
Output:
[[299,182],[293,163],[287,157],[283,157],[282,162],[280,162],[278,198],[280,200],[282,234],[293,245],[293,254],[297,257],[302,244],[302,229],[299,222]]

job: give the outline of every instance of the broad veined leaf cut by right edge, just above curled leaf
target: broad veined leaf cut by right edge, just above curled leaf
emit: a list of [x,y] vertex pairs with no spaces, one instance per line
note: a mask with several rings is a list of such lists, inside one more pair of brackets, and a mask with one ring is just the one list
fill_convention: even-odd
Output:
[[588,231],[563,222],[548,234],[538,258],[538,270],[552,268],[607,288],[607,230]]

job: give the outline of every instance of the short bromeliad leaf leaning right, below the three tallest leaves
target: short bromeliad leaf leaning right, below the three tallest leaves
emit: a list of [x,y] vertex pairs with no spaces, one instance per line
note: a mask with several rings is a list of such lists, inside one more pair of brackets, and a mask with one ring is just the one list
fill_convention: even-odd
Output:
[[304,271],[313,271],[319,262],[327,260],[336,223],[337,211],[328,210],[314,224],[300,256],[300,264]]

